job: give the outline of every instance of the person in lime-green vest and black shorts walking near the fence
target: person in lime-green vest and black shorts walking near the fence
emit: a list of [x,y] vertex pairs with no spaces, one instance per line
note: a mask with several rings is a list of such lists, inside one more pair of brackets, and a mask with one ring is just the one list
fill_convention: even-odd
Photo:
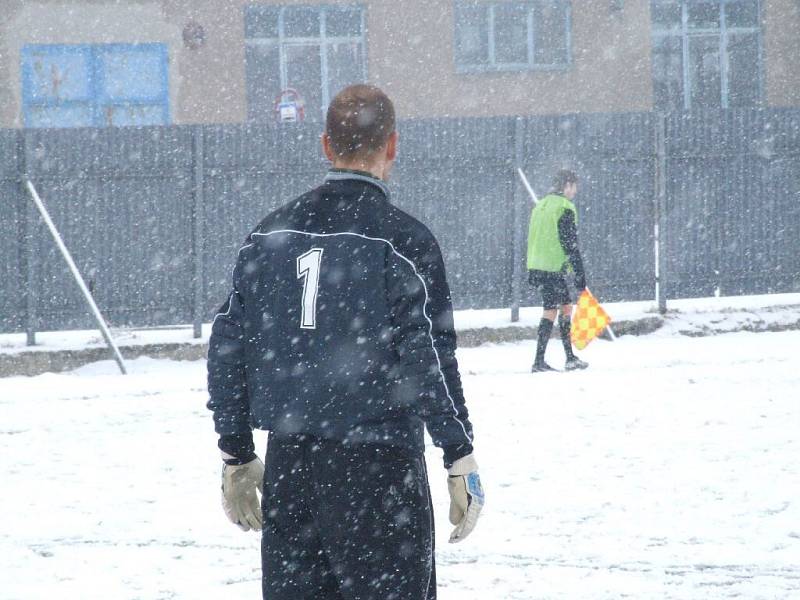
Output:
[[579,293],[586,288],[586,274],[578,249],[578,214],[572,203],[577,192],[577,175],[562,169],[553,178],[553,189],[531,212],[528,228],[528,281],[541,292],[544,308],[542,320],[539,322],[532,373],[555,370],[545,362],[544,352],[559,308],[561,315],[558,327],[566,355],[564,369],[573,371],[589,366],[575,356],[570,338],[572,299],[567,287],[567,274],[574,274],[575,287]]

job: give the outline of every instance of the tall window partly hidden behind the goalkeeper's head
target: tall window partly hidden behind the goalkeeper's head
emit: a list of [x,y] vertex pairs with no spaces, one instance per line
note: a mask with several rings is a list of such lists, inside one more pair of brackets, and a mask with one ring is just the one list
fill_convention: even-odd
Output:
[[343,87],[366,80],[359,5],[245,8],[247,103],[254,121],[275,119],[275,100],[294,89],[318,121]]

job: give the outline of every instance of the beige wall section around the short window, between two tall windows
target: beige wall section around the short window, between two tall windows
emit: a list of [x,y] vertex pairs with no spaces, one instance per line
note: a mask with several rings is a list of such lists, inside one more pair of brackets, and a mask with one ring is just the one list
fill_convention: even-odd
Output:
[[[573,65],[565,71],[458,74],[452,0],[370,3],[369,72],[404,116],[473,116],[649,110],[648,3],[572,3]],[[425,19],[415,15],[426,15]],[[430,15],[430,16],[429,16]],[[393,29],[387,31],[387,23]]]

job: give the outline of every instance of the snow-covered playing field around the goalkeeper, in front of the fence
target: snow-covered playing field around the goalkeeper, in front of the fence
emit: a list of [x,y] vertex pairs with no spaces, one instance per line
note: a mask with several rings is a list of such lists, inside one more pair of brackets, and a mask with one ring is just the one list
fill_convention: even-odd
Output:
[[[800,332],[459,351],[487,506],[441,600],[800,598]],[[548,360],[561,363],[557,340]],[[0,598],[258,598],[259,537],[219,505],[205,366],[0,379]],[[263,446],[266,437],[258,442]]]

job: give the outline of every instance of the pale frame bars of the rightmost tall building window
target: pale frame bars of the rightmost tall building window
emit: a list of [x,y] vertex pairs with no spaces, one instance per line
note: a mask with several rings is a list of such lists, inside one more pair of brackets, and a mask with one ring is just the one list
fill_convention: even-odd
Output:
[[[673,0],[680,3],[681,7],[681,24],[680,28],[662,28],[656,26],[652,19],[652,7],[658,0],[651,0],[650,2],[650,34],[651,41],[651,65],[652,54],[655,49],[656,41],[663,40],[664,38],[676,38],[680,40],[681,44],[681,84],[683,87],[682,109],[684,111],[692,110],[692,79],[691,79],[691,66],[690,66],[690,50],[689,43],[692,38],[715,36],[717,38],[717,48],[719,50],[719,69],[720,69],[720,105],[721,109],[738,108],[730,106],[730,55],[728,52],[728,40],[731,35],[756,35],[758,43],[758,77],[756,78],[757,100],[753,106],[762,106],[764,104],[764,91],[765,91],[765,69],[764,69],[764,3],[761,0],[753,0],[757,5],[758,11],[758,25],[752,27],[729,27],[726,23],[726,10],[725,5],[736,2],[737,0],[703,0],[704,4],[716,4],[719,10],[719,28],[716,27],[690,27],[689,26],[689,5],[692,0]],[[652,66],[651,66],[652,69]],[[655,72],[652,71],[652,80],[655,82]],[[655,86],[654,86],[655,87]],[[660,108],[655,104],[656,99],[653,98],[653,105],[655,110]],[[701,107],[694,107],[701,108]],[[716,107],[715,107],[716,108]]]

